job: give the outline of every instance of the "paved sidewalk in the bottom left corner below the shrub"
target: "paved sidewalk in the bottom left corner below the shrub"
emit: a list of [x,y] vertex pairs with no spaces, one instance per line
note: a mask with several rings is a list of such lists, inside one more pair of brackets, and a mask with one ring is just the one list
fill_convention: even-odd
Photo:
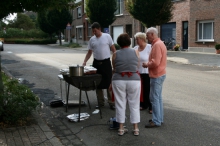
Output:
[[47,145],[61,146],[62,143],[54,135],[53,131],[35,112],[33,114],[36,123],[30,126],[0,128],[0,145],[1,146],[30,146],[30,145]]

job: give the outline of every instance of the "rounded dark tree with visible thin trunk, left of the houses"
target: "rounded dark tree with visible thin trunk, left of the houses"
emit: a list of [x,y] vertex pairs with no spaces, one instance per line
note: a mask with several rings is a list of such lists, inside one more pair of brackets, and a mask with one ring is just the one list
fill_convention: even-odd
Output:
[[62,45],[61,31],[66,28],[67,23],[72,23],[72,15],[69,10],[50,10],[47,14],[47,22],[58,31],[60,45]]

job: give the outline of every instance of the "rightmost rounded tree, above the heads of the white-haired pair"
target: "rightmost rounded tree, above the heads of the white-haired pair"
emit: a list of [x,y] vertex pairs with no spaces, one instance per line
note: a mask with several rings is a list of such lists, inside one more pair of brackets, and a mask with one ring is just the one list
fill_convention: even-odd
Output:
[[171,0],[127,0],[128,12],[145,27],[167,23],[173,14]]

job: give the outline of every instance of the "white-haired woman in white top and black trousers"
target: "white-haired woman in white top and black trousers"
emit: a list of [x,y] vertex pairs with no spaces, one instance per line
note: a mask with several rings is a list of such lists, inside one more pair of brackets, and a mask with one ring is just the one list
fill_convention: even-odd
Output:
[[142,32],[137,32],[135,35],[135,40],[137,46],[134,47],[135,50],[138,50],[140,55],[140,66],[139,66],[139,73],[141,76],[141,97],[140,97],[140,110],[147,109],[149,113],[152,113],[152,105],[150,102],[150,77],[148,74],[148,68],[144,68],[142,64],[144,62],[148,62],[149,54],[151,52],[151,45],[147,44],[146,41],[146,34]]

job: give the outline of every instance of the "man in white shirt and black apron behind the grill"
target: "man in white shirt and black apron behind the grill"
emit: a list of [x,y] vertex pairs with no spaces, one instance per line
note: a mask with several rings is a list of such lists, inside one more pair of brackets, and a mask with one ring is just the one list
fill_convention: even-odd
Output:
[[85,56],[83,65],[86,65],[86,62],[89,60],[93,53],[94,60],[92,66],[97,69],[98,74],[102,75],[102,81],[96,90],[98,105],[104,106],[105,100],[102,89],[106,89],[109,106],[111,109],[114,109],[114,103],[112,102],[111,94],[108,89],[112,78],[110,51],[113,53],[116,51],[114,42],[109,34],[101,32],[101,27],[97,22],[92,24],[92,32],[94,33],[94,36],[92,36],[89,40],[88,52]]

